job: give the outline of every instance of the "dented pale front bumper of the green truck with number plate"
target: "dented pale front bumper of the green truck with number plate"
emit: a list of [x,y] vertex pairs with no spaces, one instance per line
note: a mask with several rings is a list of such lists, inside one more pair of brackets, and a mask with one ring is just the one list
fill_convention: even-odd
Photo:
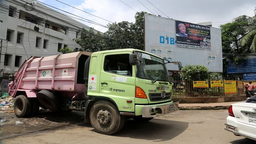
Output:
[[[154,112],[150,112],[153,109]],[[142,115],[142,117],[158,117],[179,109],[179,102],[168,102],[156,105],[135,105],[135,116]],[[151,110],[152,111],[152,110]]]

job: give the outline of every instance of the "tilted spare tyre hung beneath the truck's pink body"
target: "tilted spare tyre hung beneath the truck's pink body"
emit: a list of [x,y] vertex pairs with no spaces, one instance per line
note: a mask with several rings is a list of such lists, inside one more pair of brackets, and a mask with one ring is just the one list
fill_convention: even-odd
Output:
[[57,111],[59,106],[59,100],[57,97],[46,90],[41,90],[37,93],[37,100],[42,104],[46,109]]

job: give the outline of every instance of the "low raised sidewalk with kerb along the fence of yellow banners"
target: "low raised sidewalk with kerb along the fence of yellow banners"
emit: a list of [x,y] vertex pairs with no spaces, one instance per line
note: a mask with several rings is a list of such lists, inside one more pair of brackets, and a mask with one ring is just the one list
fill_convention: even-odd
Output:
[[[241,101],[243,102],[243,101]],[[179,104],[179,110],[220,110],[228,109],[231,104],[239,102],[225,103],[204,103],[204,104]]]

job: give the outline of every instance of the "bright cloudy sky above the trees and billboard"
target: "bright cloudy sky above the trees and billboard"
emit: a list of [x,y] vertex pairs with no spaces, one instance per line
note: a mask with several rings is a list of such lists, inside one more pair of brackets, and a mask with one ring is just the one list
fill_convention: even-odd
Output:
[[[231,22],[240,15],[254,16],[256,7],[256,0],[58,0],[100,17],[97,18],[56,0],[39,1],[105,26],[111,22],[135,22],[136,11],[145,11],[195,24],[212,21],[212,27],[218,28],[220,24]],[[108,30],[102,26],[80,22],[101,32]]]

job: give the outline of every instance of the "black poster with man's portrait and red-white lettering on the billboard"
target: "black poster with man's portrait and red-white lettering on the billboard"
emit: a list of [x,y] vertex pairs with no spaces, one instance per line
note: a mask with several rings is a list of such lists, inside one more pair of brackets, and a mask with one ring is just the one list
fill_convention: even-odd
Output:
[[210,27],[175,20],[178,47],[211,50]]

